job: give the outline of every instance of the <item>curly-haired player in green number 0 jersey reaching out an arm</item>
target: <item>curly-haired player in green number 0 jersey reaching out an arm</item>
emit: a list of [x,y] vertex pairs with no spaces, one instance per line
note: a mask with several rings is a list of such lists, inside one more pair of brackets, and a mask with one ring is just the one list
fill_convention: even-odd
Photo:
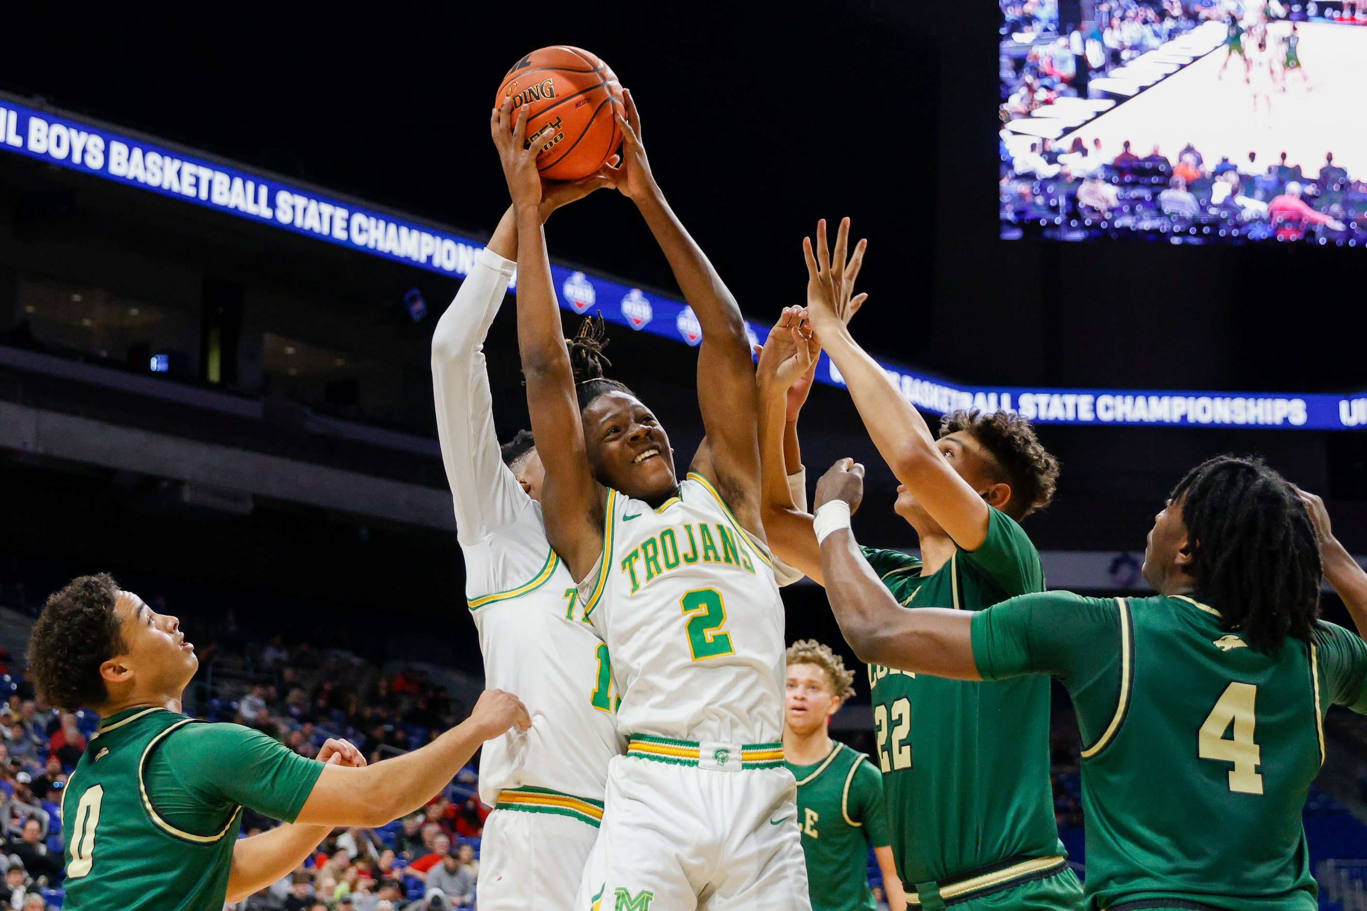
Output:
[[[365,768],[328,740],[319,759],[260,731],[180,714],[200,660],[180,621],[107,574],[72,579],[33,624],[29,677],[52,705],[100,716],[62,792],[68,911],[220,911],[288,875],[335,826],[377,826],[421,807],[474,750],[528,717],[485,691],[461,725]],[[242,807],[286,825],[238,840]]]

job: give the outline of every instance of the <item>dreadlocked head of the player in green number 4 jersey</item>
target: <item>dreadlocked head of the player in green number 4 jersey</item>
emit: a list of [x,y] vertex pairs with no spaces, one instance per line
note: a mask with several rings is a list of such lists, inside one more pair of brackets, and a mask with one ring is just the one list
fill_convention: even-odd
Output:
[[1154,519],[1144,579],[1191,591],[1255,649],[1308,639],[1319,617],[1319,542],[1296,489],[1255,458],[1217,456]]

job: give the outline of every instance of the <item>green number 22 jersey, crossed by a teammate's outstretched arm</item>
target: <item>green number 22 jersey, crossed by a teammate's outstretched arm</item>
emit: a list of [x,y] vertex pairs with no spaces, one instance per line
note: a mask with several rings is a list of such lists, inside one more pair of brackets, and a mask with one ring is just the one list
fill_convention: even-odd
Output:
[[[864,555],[906,608],[982,611],[1044,587],[1035,545],[997,509],[983,545],[932,575],[898,550]],[[972,683],[879,665],[868,676],[893,856],[909,892],[1013,858],[1066,856],[1048,777],[1047,679]]]

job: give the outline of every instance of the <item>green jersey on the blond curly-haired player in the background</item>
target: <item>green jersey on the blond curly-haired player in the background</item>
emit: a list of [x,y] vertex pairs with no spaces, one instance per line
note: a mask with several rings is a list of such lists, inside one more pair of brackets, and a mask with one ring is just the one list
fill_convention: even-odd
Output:
[[813,765],[783,765],[797,779],[797,824],[812,911],[872,911],[868,850],[889,844],[878,769],[843,743]]

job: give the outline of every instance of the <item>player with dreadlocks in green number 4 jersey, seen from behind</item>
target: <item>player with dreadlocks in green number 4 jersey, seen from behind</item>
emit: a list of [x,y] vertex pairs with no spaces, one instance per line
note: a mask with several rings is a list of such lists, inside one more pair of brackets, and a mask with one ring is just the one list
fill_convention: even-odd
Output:
[[[863,467],[842,459],[817,516],[861,494]],[[1367,713],[1367,646],[1319,620],[1315,527],[1263,462],[1219,456],[1173,489],[1144,553],[1151,598],[902,611],[848,524],[824,535],[822,565],[861,658],[957,680],[1047,675],[1069,691],[1091,908],[1316,907],[1301,807],[1325,712]]]

